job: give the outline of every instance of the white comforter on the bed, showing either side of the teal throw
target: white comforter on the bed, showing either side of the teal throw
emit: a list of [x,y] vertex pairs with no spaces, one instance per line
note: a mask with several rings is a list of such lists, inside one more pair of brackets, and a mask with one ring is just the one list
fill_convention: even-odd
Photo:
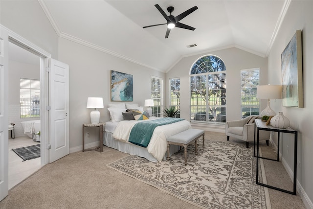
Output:
[[[113,137],[117,140],[128,142],[134,124],[144,121],[145,120],[120,121],[113,132]],[[157,126],[153,132],[150,143],[147,146],[148,152],[161,162],[167,150],[166,139],[190,128],[190,123],[187,120]]]

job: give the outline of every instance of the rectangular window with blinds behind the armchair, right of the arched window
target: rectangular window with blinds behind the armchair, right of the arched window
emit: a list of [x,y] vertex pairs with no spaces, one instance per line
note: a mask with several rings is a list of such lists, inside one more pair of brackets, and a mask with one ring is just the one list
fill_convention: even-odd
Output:
[[256,87],[260,84],[260,69],[240,70],[240,77],[242,118],[257,116],[260,112],[260,103],[256,98]]

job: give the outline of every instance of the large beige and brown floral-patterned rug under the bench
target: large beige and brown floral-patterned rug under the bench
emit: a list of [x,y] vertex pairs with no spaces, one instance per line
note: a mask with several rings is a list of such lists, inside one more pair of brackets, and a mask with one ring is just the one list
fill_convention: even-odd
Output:
[[[205,140],[205,148],[194,145],[169,161],[152,163],[129,155],[107,166],[205,209],[270,209],[268,188],[256,185],[256,158],[246,145]],[[262,170],[263,161],[260,159]],[[263,168],[264,171],[264,168]],[[265,174],[259,172],[259,181]]]

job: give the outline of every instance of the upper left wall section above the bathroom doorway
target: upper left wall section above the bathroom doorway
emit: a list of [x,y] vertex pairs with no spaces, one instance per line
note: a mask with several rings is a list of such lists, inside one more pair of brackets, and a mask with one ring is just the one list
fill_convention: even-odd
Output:
[[0,0],[0,23],[58,58],[58,36],[37,0]]

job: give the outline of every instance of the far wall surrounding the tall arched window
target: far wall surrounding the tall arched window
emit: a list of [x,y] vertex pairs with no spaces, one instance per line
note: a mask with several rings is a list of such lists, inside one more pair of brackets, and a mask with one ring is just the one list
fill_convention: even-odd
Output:
[[[226,66],[226,119],[237,120],[241,119],[241,81],[240,70],[260,68],[261,85],[268,84],[268,62],[267,58],[263,58],[238,48],[228,48],[218,51],[211,51],[199,55],[182,58],[168,73],[166,73],[166,106],[169,106],[169,79],[180,78],[180,116],[184,119],[190,119],[190,79],[189,73],[192,65],[200,57],[208,54],[213,54],[220,57]],[[266,101],[261,101],[261,109],[266,107]]]

